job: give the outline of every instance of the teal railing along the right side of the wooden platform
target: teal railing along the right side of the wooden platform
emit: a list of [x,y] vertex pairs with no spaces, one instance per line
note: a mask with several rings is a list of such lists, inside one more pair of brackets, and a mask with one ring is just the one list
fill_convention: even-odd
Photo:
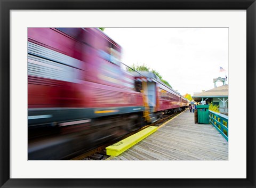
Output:
[[228,141],[228,116],[209,110],[210,123]]

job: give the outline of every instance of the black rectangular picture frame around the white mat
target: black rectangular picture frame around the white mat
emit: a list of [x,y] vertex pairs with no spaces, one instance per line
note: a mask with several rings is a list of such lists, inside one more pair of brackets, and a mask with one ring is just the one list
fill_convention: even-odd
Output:
[[[255,187],[255,0],[0,0],[1,187]],[[10,10],[246,10],[246,179],[10,178]],[[243,99],[245,101],[245,99]],[[240,109],[245,110],[245,109]],[[125,169],[124,169],[125,170]],[[114,175],[113,175],[114,177]]]

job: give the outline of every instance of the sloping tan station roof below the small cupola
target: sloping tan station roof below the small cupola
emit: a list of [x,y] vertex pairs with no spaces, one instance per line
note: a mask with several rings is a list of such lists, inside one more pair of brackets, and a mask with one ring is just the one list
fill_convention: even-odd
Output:
[[228,85],[219,86],[208,91],[202,93],[196,93],[193,98],[195,97],[217,97],[217,96],[228,96]]

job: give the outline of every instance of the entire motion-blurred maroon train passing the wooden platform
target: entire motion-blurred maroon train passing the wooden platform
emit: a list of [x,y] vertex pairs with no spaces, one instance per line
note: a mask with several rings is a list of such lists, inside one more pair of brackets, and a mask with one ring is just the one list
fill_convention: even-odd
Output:
[[97,28],[28,28],[28,160],[70,159],[188,104],[154,73],[123,70]]

